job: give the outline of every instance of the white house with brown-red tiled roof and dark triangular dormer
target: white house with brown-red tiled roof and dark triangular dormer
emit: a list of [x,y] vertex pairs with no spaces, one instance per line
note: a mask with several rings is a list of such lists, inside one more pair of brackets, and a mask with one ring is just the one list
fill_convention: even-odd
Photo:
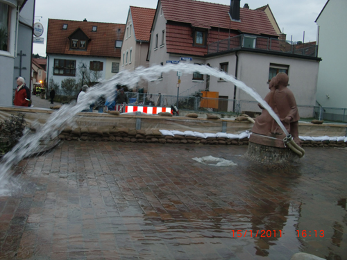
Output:
[[[75,78],[95,83],[119,72],[124,24],[49,19],[47,28],[47,83]],[[81,67],[87,67],[83,74]]]

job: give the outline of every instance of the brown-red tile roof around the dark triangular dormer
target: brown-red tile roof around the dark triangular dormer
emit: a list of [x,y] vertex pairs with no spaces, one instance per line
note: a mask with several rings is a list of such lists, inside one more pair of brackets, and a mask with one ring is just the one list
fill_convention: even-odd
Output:
[[[63,24],[67,24],[67,30],[62,29]],[[92,32],[92,26],[97,26],[96,32]],[[81,28],[85,35],[91,39],[87,44],[86,51],[70,49],[68,37],[78,28]],[[119,28],[121,30],[118,33]],[[46,53],[120,58],[121,49],[116,49],[115,43],[116,40],[123,40],[124,28],[125,24],[49,19]]]

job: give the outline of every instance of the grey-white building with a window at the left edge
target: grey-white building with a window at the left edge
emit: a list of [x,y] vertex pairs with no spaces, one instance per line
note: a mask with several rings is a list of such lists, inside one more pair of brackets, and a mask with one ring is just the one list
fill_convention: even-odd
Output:
[[1,105],[12,105],[19,76],[31,87],[34,10],[35,0],[0,0]]

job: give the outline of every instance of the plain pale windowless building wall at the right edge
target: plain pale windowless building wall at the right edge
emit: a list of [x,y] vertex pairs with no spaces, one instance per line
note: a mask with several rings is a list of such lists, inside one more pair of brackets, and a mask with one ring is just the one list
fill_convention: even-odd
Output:
[[[319,56],[322,58],[319,66],[316,100],[324,107],[347,108],[347,87],[344,75],[346,73],[347,50],[344,42],[346,31],[347,1],[328,0],[316,19],[319,28]],[[344,113],[344,111],[326,111],[328,113]],[[346,113],[347,119],[347,113]]]

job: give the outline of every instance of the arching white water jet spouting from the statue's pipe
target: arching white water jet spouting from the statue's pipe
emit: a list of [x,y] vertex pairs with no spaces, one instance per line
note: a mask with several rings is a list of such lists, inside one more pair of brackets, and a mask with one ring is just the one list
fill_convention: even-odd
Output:
[[[242,81],[237,80],[234,76],[230,76],[223,71],[214,69],[208,66],[201,66],[196,64],[167,64],[165,66],[155,65],[149,68],[138,67],[135,71],[121,71],[117,76],[110,80],[103,80],[98,85],[92,87],[85,95],[84,103],[62,105],[62,107],[53,112],[49,116],[48,121],[41,128],[38,128],[35,134],[30,130],[24,132],[23,137],[19,140],[18,144],[12,148],[9,153],[3,156],[0,163],[0,193],[1,190],[8,187],[8,179],[11,175],[11,167],[18,164],[24,157],[31,155],[40,145],[40,141],[49,140],[57,137],[59,133],[67,126],[74,124],[74,116],[85,109],[86,103],[93,103],[99,96],[111,96],[115,93],[116,85],[128,85],[133,87],[139,80],[156,80],[161,73],[168,73],[169,71],[182,71],[185,73],[194,73],[198,71],[201,74],[208,74],[235,84],[244,92],[255,98],[269,114],[276,120],[280,128],[282,128],[285,135],[288,135],[287,130],[282,125],[280,119],[271,107],[262,99],[262,97],[255,92],[254,89],[246,86]],[[8,189],[8,188],[7,188]]]

